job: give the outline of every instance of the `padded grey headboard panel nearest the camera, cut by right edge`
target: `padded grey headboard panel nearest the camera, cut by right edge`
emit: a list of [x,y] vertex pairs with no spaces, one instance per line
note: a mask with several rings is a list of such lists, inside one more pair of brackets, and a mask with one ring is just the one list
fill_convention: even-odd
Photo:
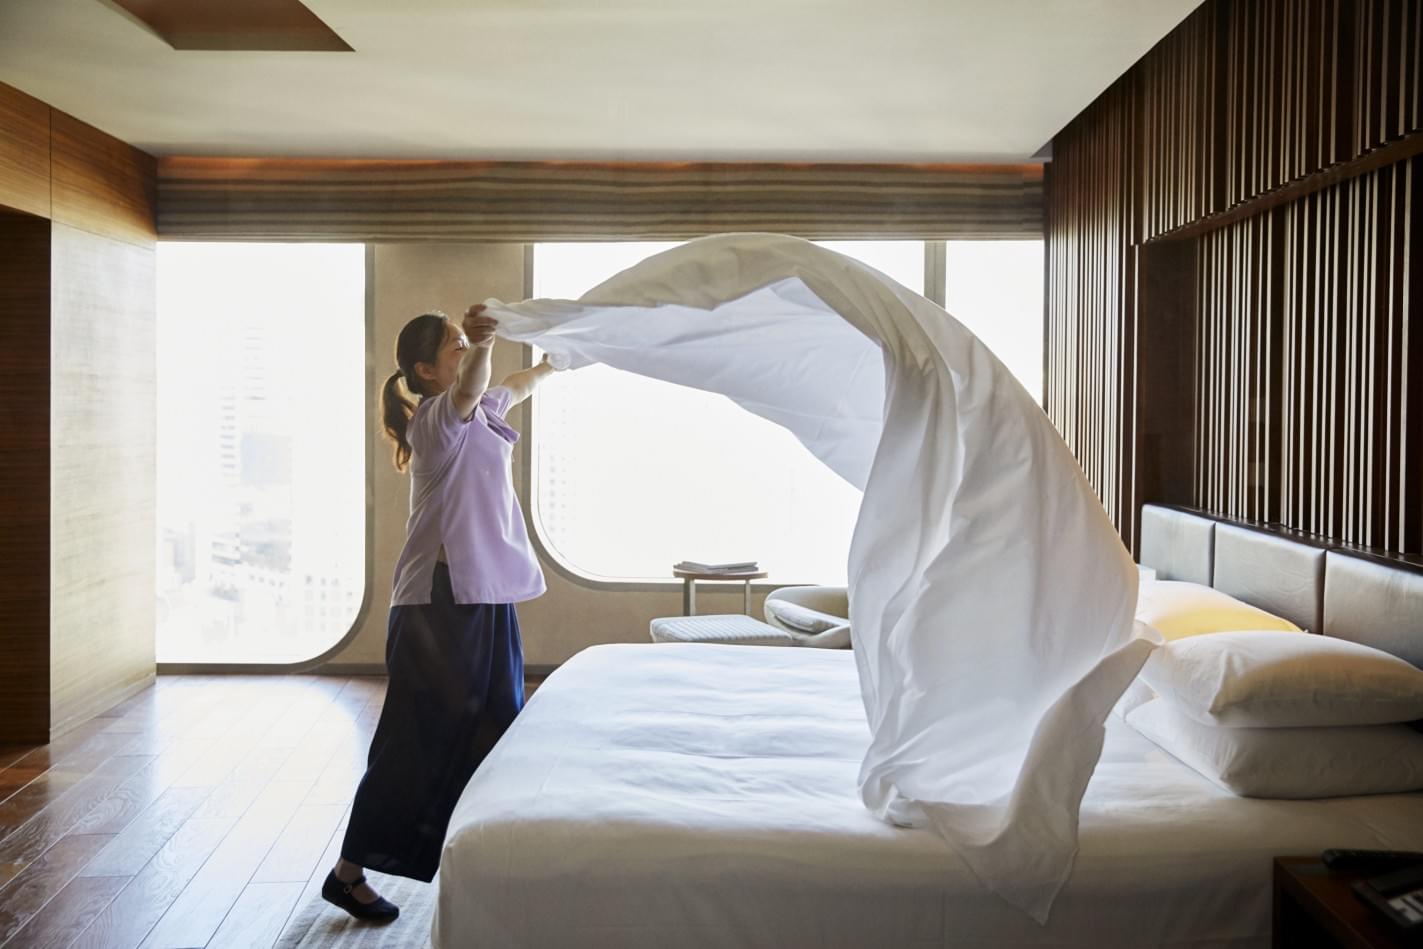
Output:
[[1423,571],[1329,551],[1323,629],[1423,667]]

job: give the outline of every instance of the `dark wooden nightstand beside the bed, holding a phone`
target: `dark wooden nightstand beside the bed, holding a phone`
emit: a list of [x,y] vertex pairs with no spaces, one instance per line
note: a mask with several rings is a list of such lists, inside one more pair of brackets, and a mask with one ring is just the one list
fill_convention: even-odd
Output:
[[1349,886],[1386,871],[1333,872],[1318,857],[1275,858],[1275,949],[1407,949],[1423,946],[1353,895]]

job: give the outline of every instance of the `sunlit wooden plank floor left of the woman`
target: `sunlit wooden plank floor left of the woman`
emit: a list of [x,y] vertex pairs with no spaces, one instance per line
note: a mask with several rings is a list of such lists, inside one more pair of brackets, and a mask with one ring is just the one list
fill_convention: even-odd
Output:
[[273,945],[336,858],[384,696],[374,676],[162,676],[0,750],[0,945]]

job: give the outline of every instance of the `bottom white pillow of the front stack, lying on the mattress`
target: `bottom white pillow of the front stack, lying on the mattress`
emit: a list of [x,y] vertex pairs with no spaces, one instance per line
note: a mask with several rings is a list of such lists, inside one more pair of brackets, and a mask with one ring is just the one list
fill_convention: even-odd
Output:
[[1318,798],[1423,788],[1423,734],[1409,726],[1220,728],[1157,699],[1127,723],[1241,797]]

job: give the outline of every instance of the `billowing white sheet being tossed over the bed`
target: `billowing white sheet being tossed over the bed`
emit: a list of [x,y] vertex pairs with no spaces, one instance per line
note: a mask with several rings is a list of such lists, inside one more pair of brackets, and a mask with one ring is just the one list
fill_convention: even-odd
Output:
[[723,393],[864,488],[864,802],[1046,919],[1101,721],[1151,646],[1130,556],[1013,376],[918,293],[774,235],[690,242],[578,303],[490,303],[501,336]]

